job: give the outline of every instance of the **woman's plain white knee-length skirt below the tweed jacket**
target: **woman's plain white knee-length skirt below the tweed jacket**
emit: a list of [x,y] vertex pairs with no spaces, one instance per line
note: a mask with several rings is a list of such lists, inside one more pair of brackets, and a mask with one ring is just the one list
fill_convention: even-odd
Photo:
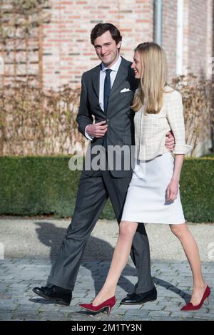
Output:
[[136,161],[121,220],[174,225],[184,223],[180,192],[174,201],[165,200],[173,169],[174,158],[170,152],[146,162]]

